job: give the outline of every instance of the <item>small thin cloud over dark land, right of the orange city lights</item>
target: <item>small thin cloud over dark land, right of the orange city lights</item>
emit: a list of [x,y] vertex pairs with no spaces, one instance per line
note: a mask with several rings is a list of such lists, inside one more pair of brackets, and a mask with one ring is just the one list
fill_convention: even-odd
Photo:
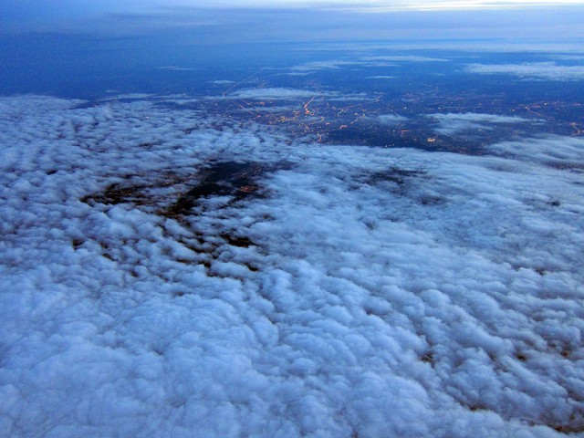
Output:
[[436,113],[428,114],[429,117],[437,122],[434,132],[443,135],[453,136],[466,130],[492,130],[497,123],[525,123],[531,121],[517,116],[499,116],[496,114],[484,114],[476,112],[464,112],[446,114]]

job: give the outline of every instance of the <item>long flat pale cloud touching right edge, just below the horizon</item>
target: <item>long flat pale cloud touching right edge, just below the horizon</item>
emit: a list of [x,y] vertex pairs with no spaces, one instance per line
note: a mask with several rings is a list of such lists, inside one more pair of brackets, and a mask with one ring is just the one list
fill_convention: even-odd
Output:
[[580,80],[584,78],[584,66],[558,66],[555,62],[470,64],[465,69],[471,73],[513,75],[527,79]]

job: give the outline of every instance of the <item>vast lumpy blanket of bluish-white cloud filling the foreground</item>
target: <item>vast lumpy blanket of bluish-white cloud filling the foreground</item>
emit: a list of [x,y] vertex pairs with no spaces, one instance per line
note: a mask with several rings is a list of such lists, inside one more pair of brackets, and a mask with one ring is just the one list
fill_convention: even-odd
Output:
[[0,434],[581,431],[581,173],[81,103],[0,98]]

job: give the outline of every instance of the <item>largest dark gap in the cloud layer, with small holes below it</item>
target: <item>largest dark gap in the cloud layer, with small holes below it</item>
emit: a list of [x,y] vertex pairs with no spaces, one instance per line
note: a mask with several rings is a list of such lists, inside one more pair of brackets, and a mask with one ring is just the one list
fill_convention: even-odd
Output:
[[[176,221],[183,227],[183,234],[175,236],[175,241],[184,248],[187,256],[179,257],[175,261],[204,266],[207,276],[223,276],[217,271],[214,262],[225,251],[231,251],[230,247],[248,250],[257,247],[257,244],[245,235],[244,226],[221,229],[214,229],[213,226],[199,227],[197,216],[210,209],[221,210],[241,201],[266,196],[261,181],[267,173],[287,168],[289,164],[286,162],[266,165],[258,162],[211,160],[202,169],[190,174],[187,174],[188,170],[179,169],[146,176],[124,175],[122,180],[125,181],[111,183],[103,192],[86,195],[81,201],[93,206],[130,204],[148,213]],[[214,197],[230,199],[213,207],[203,201]],[[71,242],[75,250],[82,249],[87,244],[87,241],[81,239],[73,239]],[[117,263],[123,262],[123,252],[112,251],[107,243],[97,244],[101,247],[103,257]],[[239,264],[252,273],[259,270],[258,266],[248,261],[240,261]],[[132,274],[134,271],[136,269],[130,275],[138,276],[136,273]],[[182,292],[177,297],[183,295]]]

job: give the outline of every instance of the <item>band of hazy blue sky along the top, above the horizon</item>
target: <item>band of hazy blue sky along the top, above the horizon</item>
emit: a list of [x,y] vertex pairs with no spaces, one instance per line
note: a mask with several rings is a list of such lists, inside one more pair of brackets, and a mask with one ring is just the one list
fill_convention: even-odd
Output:
[[[0,36],[75,34],[93,37],[192,36],[203,44],[349,39],[537,38],[581,39],[584,4],[514,9],[367,12],[342,2],[267,7],[188,6],[188,2],[72,2],[5,0]],[[373,3],[373,2],[370,2]],[[379,3],[379,2],[378,2]],[[407,4],[407,2],[402,2]],[[410,2],[412,3],[412,2]],[[432,3],[432,2],[431,2]],[[433,2],[446,4],[447,2]],[[507,2],[511,4],[512,2]],[[165,6],[163,6],[165,5]],[[275,4],[276,5],[276,4]],[[503,4],[502,4],[503,5]],[[202,7],[203,6],[203,7]],[[208,5],[207,5],[208,6]]]

